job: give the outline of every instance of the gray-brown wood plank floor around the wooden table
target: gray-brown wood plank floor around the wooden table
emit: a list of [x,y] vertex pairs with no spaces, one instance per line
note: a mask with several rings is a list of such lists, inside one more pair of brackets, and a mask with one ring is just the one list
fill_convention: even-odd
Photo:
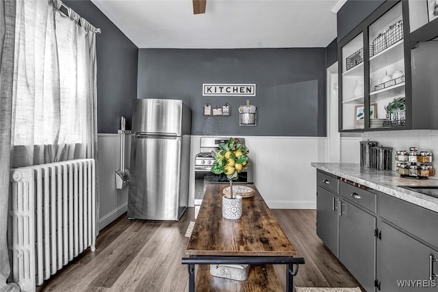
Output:
[[[273,209],[272,213],[306,261],[294,277],[295,286],[359,286],[316,235],[315,210]],[[95,252],[83,252],[37,291],[188,291],[188,270],[181,258],[193,214],[189,208],[179,222],[129,220],[123,215],[101,230]],[[285,266],[275,269],[285,289]]]

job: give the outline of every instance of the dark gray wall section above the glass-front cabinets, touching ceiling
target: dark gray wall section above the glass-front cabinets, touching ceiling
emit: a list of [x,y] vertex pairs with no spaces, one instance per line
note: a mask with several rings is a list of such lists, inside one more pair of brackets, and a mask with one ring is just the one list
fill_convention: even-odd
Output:
[[[388,0],[394,1],[394,0]],[[385,0],[348,0],[337,12],[337,41],[344,38]]]

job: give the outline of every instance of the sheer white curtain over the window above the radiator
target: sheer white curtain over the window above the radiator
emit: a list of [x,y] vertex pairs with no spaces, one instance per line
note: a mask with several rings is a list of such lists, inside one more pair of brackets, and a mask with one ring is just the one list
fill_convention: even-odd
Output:
[[94,157],[94,27],[50,2],[16,2],[12,167]]

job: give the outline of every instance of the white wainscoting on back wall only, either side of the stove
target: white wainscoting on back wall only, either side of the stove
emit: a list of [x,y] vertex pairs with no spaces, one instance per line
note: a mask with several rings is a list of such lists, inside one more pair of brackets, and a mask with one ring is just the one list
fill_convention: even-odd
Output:
[[[201,136],[192,136],[190,161],[199,152]],[[270,208],[315,209],[316,169],[326,161],[326,137],[244,137],[254,181]],[[189,205],[194,200],[194,169],[190,165]]]

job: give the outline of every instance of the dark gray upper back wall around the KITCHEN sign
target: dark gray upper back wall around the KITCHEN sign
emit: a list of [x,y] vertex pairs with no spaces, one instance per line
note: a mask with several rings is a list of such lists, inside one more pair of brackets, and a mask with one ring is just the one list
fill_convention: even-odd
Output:
[[[192,135],[325,136],[325,48],[140,49],[138,98],[182,99]],[[203,83],[255,83],[256,97],[203,96]],[[238,107],[257,105],[257,126],[239,126]],[[231,116],[203,116],[203,105]]]

